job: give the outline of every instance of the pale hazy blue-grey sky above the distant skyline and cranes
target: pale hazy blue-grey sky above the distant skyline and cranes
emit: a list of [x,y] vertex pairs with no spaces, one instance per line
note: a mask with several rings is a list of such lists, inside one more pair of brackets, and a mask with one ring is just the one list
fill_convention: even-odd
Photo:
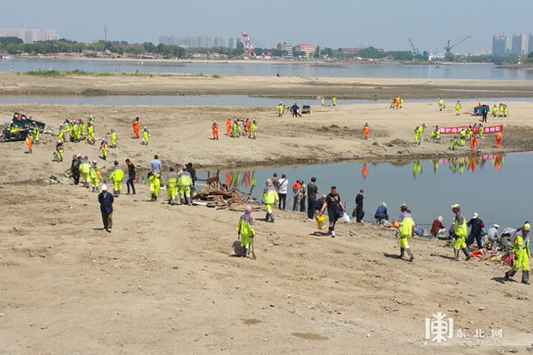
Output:
[[160,35],[238,37],[337,49],[374,45],[443,51],[447,40],[470,40],[452,51],[490,51],[495,33],[533,33],[533,0],[6,0],[0,27],[50,28],[61,37],[158,43]]

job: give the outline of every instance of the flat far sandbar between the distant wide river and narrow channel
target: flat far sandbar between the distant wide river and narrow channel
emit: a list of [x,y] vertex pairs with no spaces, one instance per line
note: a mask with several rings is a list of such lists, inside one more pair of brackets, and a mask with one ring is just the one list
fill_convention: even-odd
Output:
[[[104,74],[40,77],[0,72],[2,95],[251,95],[342,99],[531,98],[529,80],[248,77]],[[339,101],[339,104],[341,102]]]

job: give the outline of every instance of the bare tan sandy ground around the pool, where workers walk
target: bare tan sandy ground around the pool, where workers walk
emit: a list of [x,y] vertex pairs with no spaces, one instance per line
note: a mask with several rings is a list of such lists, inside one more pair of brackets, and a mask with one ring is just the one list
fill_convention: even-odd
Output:
[[[205,82],[210,80],[215,79]],[[37,81],[46,87],[45,80]],[[69,89],[82,87],[81,79],[65,82]],[[49,84],[57,88],[57,81]],[[107,82],[104,87],[114,88]],[[476,104],[463,107],[470,111]],[[532,107],[510,102],[509,117],[489,118],[489,124],[505,125],[500,151],[533,150]],[[190,161],[204,167],[442,156],[452,154],[447,139],[413,145],[414,126],[424,122],[427,137],[436,124],[478,120],[408,100],[401,110],[340,101],[339,107],[312,107],[311,115],[299,118],[278,118],[274,107],[0,105],[3,120],[14,111],[54,130],[64,117],[93,115],[97,137],[113,127],[119,147],[108,162],[99,159],[107,169],[126,157],[147,167],[154,154],[165,165]],[[148,147],[130,138],[136,116],[152,134]],[[258,138],[209,139],[213,119],[224,131],[228,116],[257,119]],[[371,126],[368,141],[362,139],[365,122]],[[444,242],[421,238],[410,242],[416,259],[408,263],[392,257],[398,240],[390,230],[339,224],[338,237],[329,238],[315,234],[315,223],[304,214],[279,210],[274,224],[256,220],[257,260],[227,257],[240,211],[149,202],[145,185],[116,200],[108,234],[99,230],[96,194],[62,177],[72,154],[95,159],[98,147],[67,143],[65,162],[52,163],[55,139],[43,135],[33,154],[24,154],[23,142],[0,144],[0,352],[530,352],[533,289],[503,284],[503,266],[454,262]],[[481,153],[495,152],[493,145],[488,135]],[[467,153],[464,147],[456,154]],[[51,174],[62,183],[40,182]],[[451,316],[455,331],[469,338],[446,345],[427,341],[425,318],[438,312]],[[478,329],[484,340],[472,338]],[[492,331],[500,330],[502,337],[493,338]]]

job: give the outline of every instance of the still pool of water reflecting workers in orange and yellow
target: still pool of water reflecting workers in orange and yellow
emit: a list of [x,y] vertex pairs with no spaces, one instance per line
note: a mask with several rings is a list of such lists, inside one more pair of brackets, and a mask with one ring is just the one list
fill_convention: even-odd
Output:
[[[222,183],[236,184],[243,192],[249,192],[255,182],[252,196],[256,199],[274,172],[279,178],[286,173],[290,186],[296,180],[308,183],[315,176],[320,193],[337,186],[350,215],[357,192],[364,189],[365,220],[374,219],[381,202],[386,202],[389,217],[397,219],[400,205],[406,203],[414,221],[426,229],[439,215],[448,226],[453,218],[451,205],[459,203],[467,220],[477,212],[486,229],[498,223],[502,230],[533,220],[533,200],[528,194],[532,157],[531,153],[484,154],[409,163],[331,163],[238,170],[219,176]],[[207,173],[198,176],[206,178]]]

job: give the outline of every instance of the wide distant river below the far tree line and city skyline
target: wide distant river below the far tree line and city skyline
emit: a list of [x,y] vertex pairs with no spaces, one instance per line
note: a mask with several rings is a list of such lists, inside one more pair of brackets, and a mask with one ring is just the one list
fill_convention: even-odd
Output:
[[295,62],[195,62],[195,61],[90,61],[50,59],[0,60],[0,71],[83,70],[88,72],[128,73],[203,73],[247,76],[414,78],[414,79],[512,79],[531,80],[533,70],[499,69],[491,64],[317,64]]

